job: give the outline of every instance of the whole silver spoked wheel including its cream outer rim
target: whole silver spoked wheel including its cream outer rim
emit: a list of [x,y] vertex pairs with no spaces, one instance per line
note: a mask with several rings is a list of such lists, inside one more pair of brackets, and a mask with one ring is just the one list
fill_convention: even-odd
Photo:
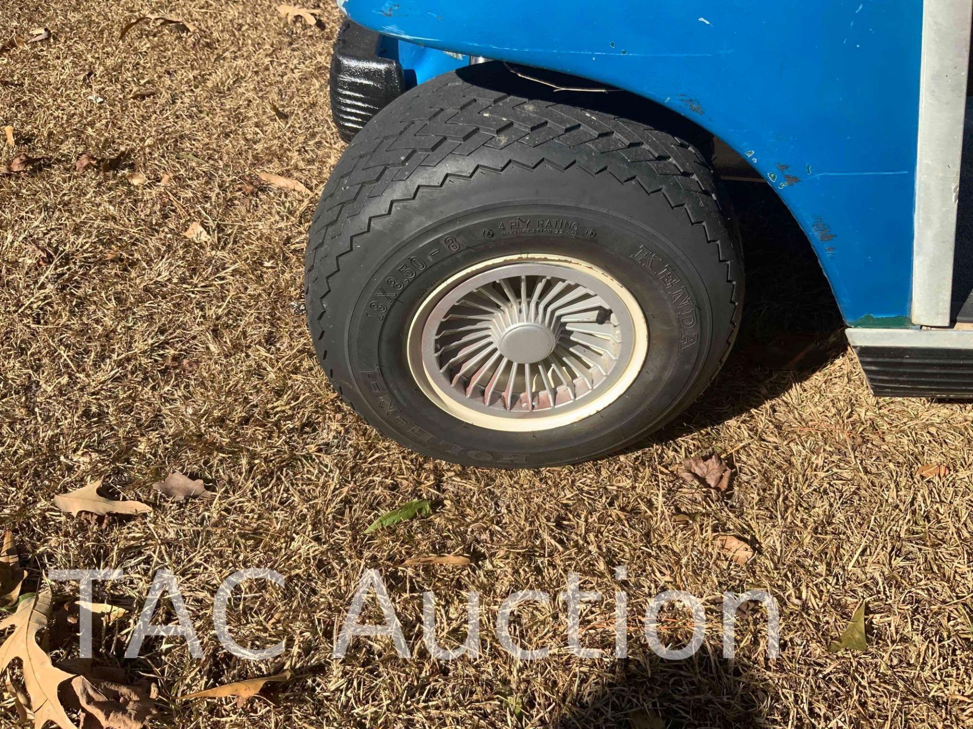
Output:
[[409,364],[422,391],[473,425],[557,428],[618,399],[645,359],[634,297],[580,260],[521,255],[477,264],[420,305]]

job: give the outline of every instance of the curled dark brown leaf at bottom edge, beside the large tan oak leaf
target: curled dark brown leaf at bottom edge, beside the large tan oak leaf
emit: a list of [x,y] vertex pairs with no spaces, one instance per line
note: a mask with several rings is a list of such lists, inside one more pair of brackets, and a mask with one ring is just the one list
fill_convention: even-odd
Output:
[[82,729],[142,729],[157,711],[155,686],[147,681],[128,686],[76,676],[71,688],[82,712]]

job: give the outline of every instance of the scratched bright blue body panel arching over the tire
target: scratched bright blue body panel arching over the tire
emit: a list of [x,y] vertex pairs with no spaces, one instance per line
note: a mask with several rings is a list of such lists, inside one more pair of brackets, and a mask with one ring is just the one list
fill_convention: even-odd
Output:
[[775,175],[848,322],[909,314],[918,0],[346,0],[344,10],[430,49],[665,104]]

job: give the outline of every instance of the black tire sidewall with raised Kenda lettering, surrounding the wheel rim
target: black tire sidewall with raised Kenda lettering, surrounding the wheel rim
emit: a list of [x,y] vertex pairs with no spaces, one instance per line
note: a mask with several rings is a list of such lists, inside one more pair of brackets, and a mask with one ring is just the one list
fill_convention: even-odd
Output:
[[[427,455],[464,464],[529,467],[616,450],[696,397],[695,385],[708,382],[719,364],[710,357],[711,342],[725,332],[713,331],[709,289],[721,277],[725,284],[725,269],[701,269],[694,263],[701,254],[707,261],[715,257],[705,250],[704,235],[689,236],[687,242],[690,225],[680,217],[682,211],[669,206],[662,194],[646,196],[621,184],[579,194],[591,192],[592,186],[579,188],[562,172],[522,171],[502,181],[465,182],[461,189],[438,191],[435,202],[422,198],[436,192],[424,191],[365,232],[362,250],[383,255],[361,261],[353,276],[342,278],[343,291],[334,292],[350,303],[344,308],[347,326],[340,327],[344,341],[331,342],[347,352],[346,371],[335,375],[353,385],[359,396],[354,404],[371,422]],[[530,193],[541,189],[561,194],[531,199]],[[444,199],[454,195],[466,200],[467,212],[430,223],[430,210],[463,209],[456,200]],[[604,206],[608,199],[610,210]],[[474,200],[483,204],[470,209]],[[623,212],[627,206],[635,215]],[[369,236],[380,240],[369,246]],[[388,245],[395,236],[400,244]],[[687,250],[694,246],[700,250]],[[524,253],[585,260],[619,280],[645,314],[648,354],[631,387],[581,421],[528,433],[472,426],[418,388],[407,362],[407,333],[426,295],[450,276],[483,260]],[[335,333],[331,330],[328,338]]]

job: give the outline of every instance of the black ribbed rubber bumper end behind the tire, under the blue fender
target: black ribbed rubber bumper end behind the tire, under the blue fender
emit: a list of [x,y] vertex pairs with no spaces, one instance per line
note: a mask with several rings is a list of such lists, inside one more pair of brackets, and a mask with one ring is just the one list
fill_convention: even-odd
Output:
[[345,142],[404,90],[402,66],[380,55],[382,41],[374,30],[350,20],[338,33],[331,62],[331,111]]

